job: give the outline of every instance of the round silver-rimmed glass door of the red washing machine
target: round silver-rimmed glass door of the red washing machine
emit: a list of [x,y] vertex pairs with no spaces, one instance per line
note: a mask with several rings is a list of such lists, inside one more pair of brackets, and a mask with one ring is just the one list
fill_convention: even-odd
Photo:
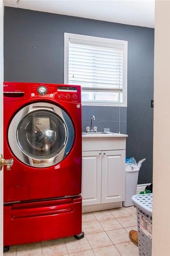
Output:
[[58,106],[38,102],[25,106],[12,119],[8,141],[23,163],[48,167],[61,162],[75,139],[70,117]]

